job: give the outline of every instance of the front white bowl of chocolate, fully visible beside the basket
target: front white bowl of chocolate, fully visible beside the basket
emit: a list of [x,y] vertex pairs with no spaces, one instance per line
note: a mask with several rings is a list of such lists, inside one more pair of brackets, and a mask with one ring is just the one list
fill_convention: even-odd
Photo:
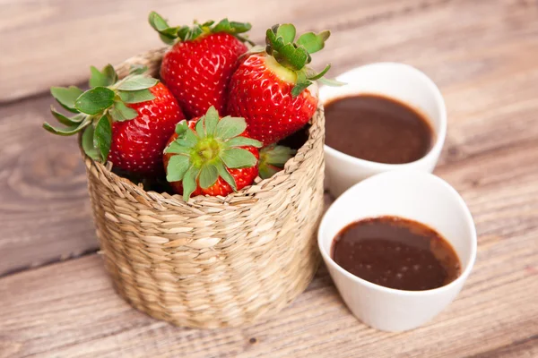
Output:
[[[457,253],[462,273],[446,286],[404,291],[356,277],[331,258],[334,236],[367,217],[405,217],[432,227]],[[396,170],[374,175],[334,201],[321,221],[317,243],[334,284],[351,312],[367,325],[386,331],[417,328],[431,320],[459,293],[476,258],[476,230],[464,200],[435,175]]]

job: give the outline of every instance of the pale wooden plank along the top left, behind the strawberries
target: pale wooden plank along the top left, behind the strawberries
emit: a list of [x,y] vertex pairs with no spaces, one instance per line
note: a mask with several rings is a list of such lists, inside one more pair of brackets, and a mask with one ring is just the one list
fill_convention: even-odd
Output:
[[[68,0],[0,1],[0,101],[21,98],[47,90],[52,85],[86,81],[91,64],[117,64],[127,57],[161,42],[147,23],[156,10],[169,17],[170,23],[189,24],[193,19],[220,20],[224,16],[251,21],[252,38],[261,40],[265,30],[278,22],[296,22],[300,28],[321,29],[330,22],[386,17],[438,1],[362,0],[360,6],[350,0],[325,3],[308,0],[273,0],[247,5],[241,0],[152,2],[94,0],[87,4]],[[353,16],[353,17],[351,17]],[[327,23],[329,21],[329,23]],[[4,85],[10,83],[13,85]]]

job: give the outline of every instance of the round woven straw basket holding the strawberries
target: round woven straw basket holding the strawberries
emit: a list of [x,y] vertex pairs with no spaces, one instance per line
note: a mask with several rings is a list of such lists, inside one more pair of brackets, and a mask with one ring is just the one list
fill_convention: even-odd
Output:
[[[157,74],[164,50],[117,67]],[[84,158],[105,266],[134,308],[178,326],[238,326],[281,310],[314,276],[323,210],[324,114],[284,170],[227,197],[145,192]]]

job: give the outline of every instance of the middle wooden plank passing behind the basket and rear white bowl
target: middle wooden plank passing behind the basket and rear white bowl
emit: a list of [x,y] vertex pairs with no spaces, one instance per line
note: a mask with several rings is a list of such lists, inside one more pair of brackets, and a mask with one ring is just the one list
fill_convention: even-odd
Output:
[[[286,16],[300,17],[304,27],[335,29],[333,45],[319,54],[319,63],[332,59],[336,70],[344,70],[394,59],[419,66],[439,83],[449,116],[440,173],[469,158],[536,141],[538,23],[531,21],[533,7],[503,1],[377,3],[337,2],[324,17],[316,6]],[[28,3],[17,2],[13,9],[22,4]],[[429,21],[435,21],[435,31],[423,30]],[[464,51],[455,46],[458,41]],[[50,119],[51,103],[49,96],[40,96],[0,107],[0,275],[96,249],[76,144],[39,128]],[[467,176],[467,182],[490,180],[474,168]]]

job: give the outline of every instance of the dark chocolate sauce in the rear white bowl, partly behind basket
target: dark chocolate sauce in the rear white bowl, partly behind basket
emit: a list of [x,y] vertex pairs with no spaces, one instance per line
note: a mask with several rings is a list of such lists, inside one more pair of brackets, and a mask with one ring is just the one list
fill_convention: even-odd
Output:
[[363,94],[325,104],[325,143],[355,158],[404,164],[434,143],[428,119],[394,98]]

